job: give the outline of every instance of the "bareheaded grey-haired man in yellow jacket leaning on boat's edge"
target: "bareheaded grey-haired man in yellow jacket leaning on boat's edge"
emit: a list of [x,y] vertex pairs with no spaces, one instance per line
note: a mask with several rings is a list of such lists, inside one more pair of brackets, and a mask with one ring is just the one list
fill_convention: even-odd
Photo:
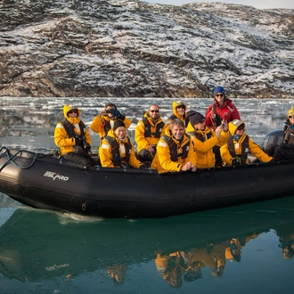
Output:
[[157,169],[159,173],[196,171],[196,152],[191,140],[184,134],[184,122],[181,119],[173,119],[166,134],[159,139],[151,168]]

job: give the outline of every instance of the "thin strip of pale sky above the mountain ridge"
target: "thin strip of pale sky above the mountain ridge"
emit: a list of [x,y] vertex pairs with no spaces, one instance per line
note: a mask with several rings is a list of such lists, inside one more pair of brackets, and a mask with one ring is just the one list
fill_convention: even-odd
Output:
[[142,0],[150,3],[161,3],[161,4],[188,4],[193,2],[224,2],[227,4],[243,4],[254,6],[258,9],[271,9],[271,8],[290,8],[294,9],[293,0]]

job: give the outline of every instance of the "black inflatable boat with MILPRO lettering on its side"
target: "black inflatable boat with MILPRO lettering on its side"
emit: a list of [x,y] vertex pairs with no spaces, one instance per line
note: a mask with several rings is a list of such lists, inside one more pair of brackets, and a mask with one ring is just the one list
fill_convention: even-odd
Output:
[[[264,142],[276,140],[273,132]],[[293,170],[294,162],[287,161],[159,174],[134,168],[84,168],[43,153],[3,147],[0,192],[33,208],[153,218],[294,196]]]

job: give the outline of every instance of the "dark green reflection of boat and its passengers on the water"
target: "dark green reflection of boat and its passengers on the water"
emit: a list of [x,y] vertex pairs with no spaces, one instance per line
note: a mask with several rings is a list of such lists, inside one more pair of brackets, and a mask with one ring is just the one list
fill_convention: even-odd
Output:
[[[287,208],[287,209],[285,209]],[[274,228],[281,258],[293,256],[294,198],[149,220],[72,220],[17,208],[0,227],[0,272],[21,282],[78,277],[100,270],[123,285],[134,265],[152,262],[170,287],[225,276],[229,262]],[[81,217],[81,216],[77,216]],[[258,258],[261,252],[251,253]],[[246,276],[240,268],[240,275]]]

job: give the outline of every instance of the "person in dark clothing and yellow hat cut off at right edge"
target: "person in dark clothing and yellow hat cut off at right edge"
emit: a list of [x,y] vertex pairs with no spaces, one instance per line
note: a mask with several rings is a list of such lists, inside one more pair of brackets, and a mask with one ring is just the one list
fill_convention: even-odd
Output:
[[273,157],[279,160],[294,160],[294,107],[291,107],[288,112],[283,128],[282,143],[275,148]]

